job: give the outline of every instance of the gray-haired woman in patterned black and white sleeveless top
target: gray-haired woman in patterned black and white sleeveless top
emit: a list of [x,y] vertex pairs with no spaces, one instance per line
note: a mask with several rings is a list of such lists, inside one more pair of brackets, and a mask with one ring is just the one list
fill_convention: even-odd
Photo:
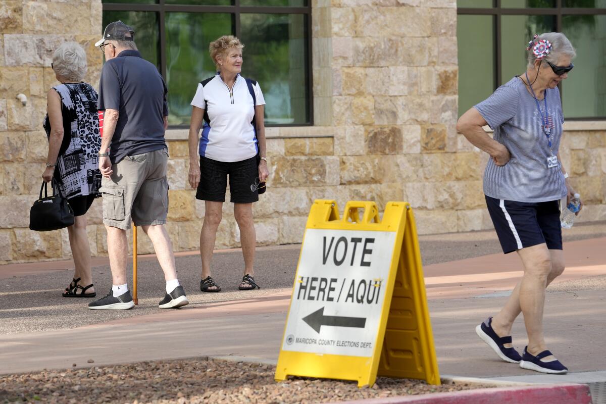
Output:
[[87,70],[86,53],[76,42],[67,42],[57,48],[52,67],[61,84],[48,90],[44,119],[48,157],[42,179],[45,182],[55,180],[75,216],[75,222],[67,232],[76,271],[63,296],[95,297],[86,213],[93,200],[101,196],[97,92],[82,81]]

